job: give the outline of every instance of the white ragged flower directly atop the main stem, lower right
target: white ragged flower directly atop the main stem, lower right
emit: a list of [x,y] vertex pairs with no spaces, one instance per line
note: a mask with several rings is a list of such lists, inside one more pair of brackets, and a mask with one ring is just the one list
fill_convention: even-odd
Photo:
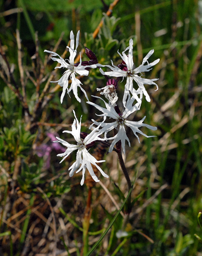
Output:
[[[94,96],[94,97],[97,97],[97,96]],[[101,99],[100,97],[97,97],[97,98]],[[103,100],[103,99],[101,99],[101,100]],[[137,103],[132,106],[132,104],[134,103],[135,100],[137,100]],[[128,141],[128,144],[130,146],[129,138],[128,138],[126,132],[125,132],[125,125],[127,125],[127,126],[129,126],[131,128],[131,130],[133,131],[134,135],[137,137],[138,142],[140,142],[140,139],[139,139],[139,137],[137,135],[137,132],[140,133],[141,135],[147,137],[147,138],[155,137],[155,136],[147,136],[141,130],[139,130],[139,128],[142,127],[142,126],[146,126],[148,129],[151,129],[153,131],[157,130],[156,127],[153,127],[153,126],[148,125],[148,124],[143,124],[143,121],[144,121],[144,119],[146,117],[144,117],[142,120],[137,121],[137,122],[136,121],[128,121],[127,120],[128,116],[131,113],[133,113],[136,110],[140,109],[141,98],[138,98],[138,96],[136,94],[132,95],[131,99],[130,99],[130,95],[128,95],[128,100],[126,102],[126,106],[124,108],[124,111],[123,111],[122,115],[119,115],[115,111],[115,108],[113,108],[113,106],[111,104],[109,105],[105,101],[104,101],[104,103],[105,103],[106,108],[100,107],[97,104],[95,104],[93,102],[90,102],[90,101],[87,101],[87,103],[89,103],[90,105],[96,107],[99,111],[103,112],[103,114],[100,114],[100,116],[104,117],[104,121],[106,120],[106,117],[115,119],[115,121],[113,121],[112,123],[97,122],[97,121],[92,119],[94,124],[103,127],[100,130],[100,133],[104,132],[105,133],[105,137],[106,137],[106,134],[109,131],[111,131],[111,130],[113,130],[115,128],[118,130],[117,134],[115,136],[113,136],[111,138],[107,138],[109,140],[113,139],[113,142],[111,143],[110,148],[109,148],[109,153],[113,150],[114,145],[118,141],[121,141],[122,149],[123,149],[124,154],[125,154],[125,141]]]

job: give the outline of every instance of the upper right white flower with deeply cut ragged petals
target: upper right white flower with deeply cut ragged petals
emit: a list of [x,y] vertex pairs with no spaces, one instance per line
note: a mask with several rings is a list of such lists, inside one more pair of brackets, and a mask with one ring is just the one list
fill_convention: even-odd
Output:
[[[112,66],[106,65],[112,71],[104,72],[102,69],[100,69],[100,72],[103,75],[114,76],[114,77],[123,77],[123,78],[127,77],[127,82],[125,84],[125,92],[124,92],[124,97],[123,97],[124,107],[125,107],[125,103],[126,103],[128,94],[131,93],[132,95],[134,95],[136,93],[136,91],[133,88],[133,80],[135,80],[135,82],[138,84],[138,87],[141,89],[141,92],[146,96],[146,100],[148,102],[150,101],[150,97],[144,87],[144,84],[155,84],[156,88],[158,89],[157,84],[154,83],[154,81],[158,80],[157,78],[146,79],[146,78],[142,78],[141,76],[138,76],[137,74],[139,74],[139,73],[141,74],[142,72],[151,70],[152,69],[151,67],[156,65],[160,59],[156,59],[154,62],[149,63],[148,58],[151,56],[151,54],[154,53],[154,50],[151,50],[147,54],[147,56],[143,58],[142,64],[140,66],[138,66],[138,68],[135,68],[133,58],[132,58],[132,44],[133,44],[132,39],[130,39],[129,44],[130,44],[130,46],[125,49],[125,51],[129,50],[128,56],[125,54],[125,51],[122,52],[122,55],[118,52],[118,54],[121,56],[121,58],[125,62],[127,70],[119,69],[117,66],[113,65],[112,61],[111,61]],[[146,64],[146,65],[144,65],[144,64]]]

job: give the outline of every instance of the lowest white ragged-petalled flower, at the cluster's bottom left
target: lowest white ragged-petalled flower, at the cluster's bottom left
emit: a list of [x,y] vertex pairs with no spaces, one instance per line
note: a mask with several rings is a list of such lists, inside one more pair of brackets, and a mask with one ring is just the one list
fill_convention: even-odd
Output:
[[[74,110],[73,110],[73,112],[74,112]],[[55,141],[55,142],[60,142],[62,145],[67,147],[65,153],[57,155],[57,156],[61,156],[61,157],[64,156],[64,158],[60,161],[60,163],[62,161],[64,161],[66,159],[66,157],[68,155],[70,155],[74,150],[78,150],[76,161],[69,168],[69,170],[71,170],[70,176],[73,176],[75,170],[77,170],[76,173],[78,173],[82,169],[83,177],[82,177],[81,183],[80,183],[82,186],[84,184],[85,170],[87,168],[89,170],[89,173],[91,174],[93,180],[98,182],[99,180],[98,180],[97,176],[94,174],[92,166],[91,166],[91,164],[94,164],[94,166],[96,166],[98,168],[100,173],[102,173],[102,175],[104,177],[108,178],[108,175],[106,175],[103,172],[103,170],[97,165],[97,163],[105,162],[105,160],[97,161],[96,158],[94,156],[92,156],[89,153],[89,151],[87,151],[87,149],[86,149],[90,143],[92,143],[94,141],[104,140],[104,139],[98,137],[101,134],[99,132],[99,126],[96,129],[94,129],[89,135],[87,135],[84,140],[81,140],[81,137],[80,137],[81,119],[80,119],[80,123],[79,123],[77,117],[75,116],[75,112],[74,112],[74,117],[75,117],[75,119],[72,124],[72,131],[63,131],[63,132],[71,133],[73,135],[75,141],[77,142],[77,144],[73,145],[73,144],[70,144],[70,143],[64,141],[63,139],[61,139],[59,137],[56,137],[58,139],[58,141]],[[80,164],[81,164],[81,166],[80,166]]]

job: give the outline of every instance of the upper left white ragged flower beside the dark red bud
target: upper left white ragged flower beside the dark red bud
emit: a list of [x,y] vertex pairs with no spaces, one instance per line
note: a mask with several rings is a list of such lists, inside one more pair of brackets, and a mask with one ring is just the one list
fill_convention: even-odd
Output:
[[[86,99],[88,99],[87,94],[85,92],[85,90],[80,86],[80,84],[82,84],[76,77],[75,75],[79,74],[80,76],[87,76],[89,75],[89,71],[86,70],[86,68],[96,68],[96,65],[89,65],[89,66],[82,66],[81,65],[81,57],[80,57],[80,63],[78,66],[74,65],[74,58],[77,55],[77,47],[79,45],[79,31],[77,33],[77,40],[76,40],[76,45],[75,45],[75,50],[74,50],[74,34],[71,31],[70,33],[70,47],[67,46],[67,48],[70,51],[70,59],[68,59],[68,63],[59,56],[58,53],[52,52],[52,51],[47,51],[45,50],[45,52],[51,53],[52,56],[58,56],[59,58],[54,58],[52,57],[52,60],[60,63],[60,66],[56,66],[56,68],[66,68],[67,70],[64,72],[64,75],[60,78],[60,80],[58,81],[51,81],[53,83],[58,83],[62,88],[62,94],[61,94],[61,98],[60,98],[60,102],[62,103],[64,96],[65,96],[65,92],[67,90],[67,93],[69,94],[71,92],[71,90],[73,91],[73,94],[75,96],[75,98],[81,102],[80,98],[78,97],[78,93],[77,93],[77,87],[80,87],[80,89],[82,90],[82,92],[85,94]],[[72,80],[72,84],[71,87],[68,89],[68,80],[71,79]]]

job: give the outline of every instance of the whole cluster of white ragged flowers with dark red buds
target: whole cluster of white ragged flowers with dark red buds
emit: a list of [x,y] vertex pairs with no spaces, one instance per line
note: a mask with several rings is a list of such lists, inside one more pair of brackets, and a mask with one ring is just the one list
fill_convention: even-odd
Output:
[[[134,113],[135,111],[138,111],[141,107],[142,98],[143,95],[146,97],[146,100],[149,102],[150,97],[147,93],[146,88],[144,87],[144,84],[154,84],[157,87],[157,84],[154,83],[157,79],[146,79],[142,77],[142,72],[146,72],[151,70],[151,68],[156,65],[159,62],[159,59],[155,60],[152,63],[148,62],[149,57],[151,54],[153,54],[154,50],[151,50],[146,57],[143,58],[143,62],[138,68],[135,68],[133,57],[132,57],[132,44],[133,41],[130,39],[129,41],[129,47],[125,49],[125,51],[122,52],[122,55],[118,52],[119,56],[122,58],[122,63],[115,66],[112,62],[112,66],[110,65],[101,65],[97,61],[97,57],[95,54],[88,48],[86,48],[85,52],[87,57],[89,57],[89,62],[82,62],[81,56],[80,56],[80,62],[74,63],[74,58],[77,56],[77,48],[79,45],[79,32],[77,33],[77,39],[76,44],[74,48],[74,34],[71,31],[70,34],[70,47],[67,46],[69,52],[70,52],[70,58],[67,60],[64,60],[61,58],[57,53],[52,51],[47,51],[50,54],[52,54],[52,60],[58,62],[60,66],[56,66],[56,68],[65,68],[66,71],[64,72],[64,75],[60,78],[58,81],[53,81],[58,83],[62,87],[62,94],[61,94],[61,103],[64,100],[64,96],[67,92],[67,94],[70,94],[71,90],[75,96],[75,98],[80,102],[80,98],[78,97],[78,87],[82,90],[84,93],[87,102],[89,105],[95,107],[98,109],[102,114],[97,114],[101,117],[103,117],[103,121],[96,121],[92,119],[93,124],[90,126],[90,133],[81,132],[81,118],[80,122],[78,121],[75,112],[74,114],[74,121],[72,124],[72,131],[64,131],[67,133],[70,133],[74,139],[75,144],[70,144],[63,139],[56,137],[57,141],[64,145],[67,149],[64,153],[58,154],[60,157],[64,157],[62,161],[66,159],[73,151],[77,150],[76,155],[76,161],[72,164],[72,166],[69,168],[70,170],[70,176],[74,174],[74,172],[78,173],[80,170],[82,170],[83,178],[81,179],[81,185],[84,184],[85,179],[85,170],[86,168],[89,170],[89,173],[91,174],[94,181],[99,181],[97,176],[93,172],[92,164],[97,167],[97,169],[100,171],[100,173],[108,177],[103,170],[100,168],[98,163],[104,162],[104,160],[97,161],[97,159],[92,156],[89,153],[89,149],[94,146],[95,143],[99,143],[102,141],[112,141],[111,144],[109,144],[109,153],[114,149],[116,145],[116,150],[123,150],[123,153],[125,154],[125,141],[128,142],[130,146],[130,140],[127,136],[127,132],[125,130],[125,126],[130,127],[134,135],[137,137],[138,141],[140,142],[140,139],[137,135],[137,133],[140,133],[141,135],[145,137],[154,137],[154,136],[147,136],[144,134],[140,127],[146,126],[148,129],[155,131],[157,128],[153,127],[148,124],[144,124],[143,121],[146,117],[144,117],[140,121],[131,121],[128,120],[128,117],[130,114]],[[128,55],[125,53],[128,51]],[[59,58],[55,58],[55,56],[58,56]],[[111,71],[103,71],[102,68],[109,68]],[[103,88],[98,88],[97,90],[101,91],[100,94],[104,95],[108,102],[103,100],[101,97],[94,96],[98,100],[103,101],[105,108],[97,105],[96,103],[93,103],[89,101],[87,94],[83,87],[81,87],[82,83],[78,78],[76,78],[76,75],[80,76],[87,76],[89,75],[89,70],[99,68],[101,74],[105,76],[105,78],[108,79],[106,82],[106,86]],[[140,74],[140,75],[138,75]],[[115,78],[109,78],[116,77]],[[117,100],[118,96],[116,93],[116,90],[118,89],[118,81],[123,80],[124,77],[127,78],[127,81],[125,83],[124,88],[124,94],[123,94],[123,112],[120,111]],[[69,81],[71,80],[71,86],[69,86]],[[134,81],[137,87],[134,86]],[[158,87],[157,87],[158,89]],[[112,119],[112,122],[109,122],[108,118]],[[96,125],[96,127],[94,127]],[[113,136],[110,137],[108,133],[113,130]],[[110,133],[109,133],[110,134]],[[118,147],[118,145],[121,145],[121,147]]]

